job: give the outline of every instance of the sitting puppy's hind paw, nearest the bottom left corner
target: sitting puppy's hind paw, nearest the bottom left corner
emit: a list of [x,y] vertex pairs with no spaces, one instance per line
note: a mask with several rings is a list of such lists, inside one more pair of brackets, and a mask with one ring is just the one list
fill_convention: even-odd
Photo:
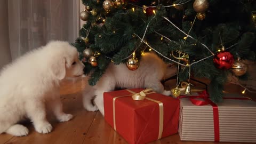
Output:
[[16,137],[26,136],[28,135],[28,128],[20,124],[15,124],[9,127],[9,129],[6,130],[6,133],[12,134]]

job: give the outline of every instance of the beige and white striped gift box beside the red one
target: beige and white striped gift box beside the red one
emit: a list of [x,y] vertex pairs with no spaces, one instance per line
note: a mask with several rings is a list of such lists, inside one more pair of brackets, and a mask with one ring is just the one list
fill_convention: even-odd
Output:
[[[225,93],[224,97],[241,96]],[[188,98],[182,98],[180,101],[180,139],[185,141],[214,141],[212,106],[196,106]],[[220,141],[256,142],[256,102],[224,99],[217,105]]]

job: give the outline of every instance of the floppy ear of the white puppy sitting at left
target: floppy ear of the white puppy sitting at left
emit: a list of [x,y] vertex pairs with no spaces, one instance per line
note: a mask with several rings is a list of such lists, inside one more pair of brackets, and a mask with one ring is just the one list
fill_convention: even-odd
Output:
[[56,76],[59,80],[65,78],[66,76],[66,59],[59,58],[55,61],[52,65],[52,73]]

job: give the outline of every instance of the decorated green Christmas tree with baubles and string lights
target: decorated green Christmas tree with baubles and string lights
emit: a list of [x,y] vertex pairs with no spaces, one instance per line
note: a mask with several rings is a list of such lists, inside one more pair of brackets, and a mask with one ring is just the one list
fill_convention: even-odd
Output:
[[[139,67],[144,52],[178,67],[177,89],[190,77],[207,78],[213,102],[228,75],[246,78],[241,60],[254,60],[256,2],[245,0],[83,0],[87,21],[74,45],[89,84],[110,62]],[[238,61],[240,60],[240,61]],[[175,90],[174,89],[174,90]]]

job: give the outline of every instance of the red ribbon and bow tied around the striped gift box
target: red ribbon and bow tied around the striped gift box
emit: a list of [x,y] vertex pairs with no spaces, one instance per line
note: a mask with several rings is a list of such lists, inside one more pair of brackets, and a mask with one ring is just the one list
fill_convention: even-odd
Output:
[[[204,105],[211,105],[213,109],[213,123],[214,123],[214,141],[219,142],[220,141],[220,124],[219,124],[219,109],[218,106],[211,101],[209,93],[207,91],[198,92],[199,95],[182,95],[178,97],[178,99],[181,98],[189,98],[191,103],[193,103],[196,106],[204,106]],[[204,100],[197,100],[197,99],[204,99]],[[223,98],[223,99],[235,99],[235,100],[251,100],[250,98]]]

